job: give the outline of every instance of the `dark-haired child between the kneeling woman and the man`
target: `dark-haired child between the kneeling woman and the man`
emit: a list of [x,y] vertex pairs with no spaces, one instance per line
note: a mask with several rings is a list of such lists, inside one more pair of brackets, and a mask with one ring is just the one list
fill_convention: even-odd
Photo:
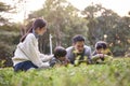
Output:
[[57,46],[54,49],[54,58],[50,61],[51,67],[67,66],[69,60],[66,58],[66,49],[62,46]]

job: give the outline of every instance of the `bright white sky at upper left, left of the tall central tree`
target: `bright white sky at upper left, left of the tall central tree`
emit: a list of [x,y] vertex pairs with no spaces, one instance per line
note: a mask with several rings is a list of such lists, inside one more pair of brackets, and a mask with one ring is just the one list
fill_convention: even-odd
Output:
[[[2,2],[5,2],[6,4],[11,4],[11,5],[17,5],[16,2],[17,0],[1,0]],[[14,14],[14,15],[6,15],[8,17],[11,17],[12,19],[10,22],[14,22],[14,23],[24,23],[24,19],[27,18],[27,15],[32,12],[32,11],[37,11],[39,9],[42,8],[42,4],[44,3],[46,0],[24,0],[26,1],[24,4],[20,4],[17,11],[18,13]]]

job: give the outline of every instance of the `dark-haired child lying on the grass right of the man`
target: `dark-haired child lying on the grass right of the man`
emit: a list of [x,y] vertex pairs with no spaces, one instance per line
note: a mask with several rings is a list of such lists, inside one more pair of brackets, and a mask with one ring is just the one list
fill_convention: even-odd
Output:
[[107,43],[104,41],[99,41],[95,44],[95,51],[92,54],[93,63],[105,63],[112,60],[112,52],[107,47]]

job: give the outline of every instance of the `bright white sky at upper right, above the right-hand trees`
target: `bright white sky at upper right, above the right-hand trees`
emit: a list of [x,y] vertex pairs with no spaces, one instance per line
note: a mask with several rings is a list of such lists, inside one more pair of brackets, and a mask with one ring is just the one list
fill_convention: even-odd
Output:
[[79,10],[83,10],[86,6],[93,4],[102,4],[106,9],[110,9],[114,12],[118,13],[120,16],[128,15],[130,11],[129,0],[67,0],[74,6]]

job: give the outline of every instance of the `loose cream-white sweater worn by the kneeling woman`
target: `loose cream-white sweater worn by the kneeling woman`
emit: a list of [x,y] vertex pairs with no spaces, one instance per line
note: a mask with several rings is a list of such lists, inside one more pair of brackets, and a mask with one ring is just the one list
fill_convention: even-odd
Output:
[[[17,45],[17,48],[12,58],[13,64],[17,64],[23,61],[30,60],[34,64],[39,68],[48,68],[49,60],[52,56],[43,55],[38,49],[38,39],[32,33],[27,34],[24,42]],[[44,62],[43,62],[44,61]]]

